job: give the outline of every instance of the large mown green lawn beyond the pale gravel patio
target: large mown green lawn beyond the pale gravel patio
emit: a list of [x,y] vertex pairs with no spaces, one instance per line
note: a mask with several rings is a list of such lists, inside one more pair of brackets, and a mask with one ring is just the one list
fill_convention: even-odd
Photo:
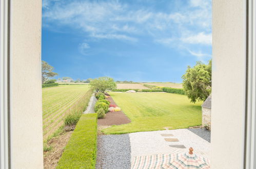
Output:
[[201,125],[203,102],[191,103],[186,95],[172,93],[109,93],[131,119],[131,123],[113,125],[105,134],[182,129]]

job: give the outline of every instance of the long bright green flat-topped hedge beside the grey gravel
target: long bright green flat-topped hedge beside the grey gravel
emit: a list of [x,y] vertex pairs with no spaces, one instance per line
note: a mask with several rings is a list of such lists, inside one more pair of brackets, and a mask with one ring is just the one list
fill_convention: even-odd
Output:
[[95,168],[97,114],[83,114],[56,168]]

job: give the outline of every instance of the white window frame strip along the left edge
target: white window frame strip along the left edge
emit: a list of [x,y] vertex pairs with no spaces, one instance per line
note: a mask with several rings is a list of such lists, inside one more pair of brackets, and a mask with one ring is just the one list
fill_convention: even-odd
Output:
[[0,168],[10,168],[10,1],[0,1]]

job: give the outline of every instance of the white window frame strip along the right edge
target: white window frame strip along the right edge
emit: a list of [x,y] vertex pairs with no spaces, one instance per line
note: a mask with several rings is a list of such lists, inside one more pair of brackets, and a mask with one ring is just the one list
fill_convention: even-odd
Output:
[[246,1],[247,100],[245,168],[256,168],[256,2]]

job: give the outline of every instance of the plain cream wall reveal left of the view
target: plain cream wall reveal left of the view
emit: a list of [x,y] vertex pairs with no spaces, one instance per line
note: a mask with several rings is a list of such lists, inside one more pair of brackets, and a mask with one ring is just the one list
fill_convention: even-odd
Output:
[[11,6],[11,165],[43,168],[41,0]]

